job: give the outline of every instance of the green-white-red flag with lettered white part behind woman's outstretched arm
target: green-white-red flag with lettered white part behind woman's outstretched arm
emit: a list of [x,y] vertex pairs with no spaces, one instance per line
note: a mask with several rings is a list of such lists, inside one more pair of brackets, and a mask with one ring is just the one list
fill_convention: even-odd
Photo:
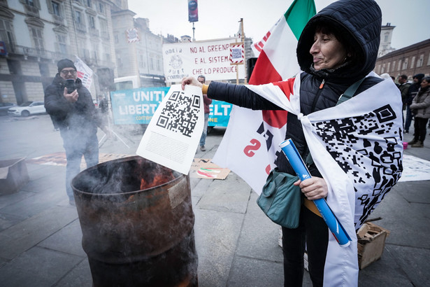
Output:
[[[315,15],[313,0],[294,0],[287,12],[255,43],[258,56],[250,85],[292,78],[300,71],[296,45],[301,31]],[[275,167],[278,145],[285,138],[287,111],[251,111],[234,106],[229,126],[213,162],[229,167],[259,195]]]

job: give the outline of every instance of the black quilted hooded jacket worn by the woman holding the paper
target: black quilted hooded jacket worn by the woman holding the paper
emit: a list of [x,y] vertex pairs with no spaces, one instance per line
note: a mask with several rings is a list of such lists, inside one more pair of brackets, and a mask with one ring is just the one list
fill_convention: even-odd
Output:
[[[303,71],[300,87],[300,108],[303,115],[335,106],[338,98],[350,85],[373,70],[380,43],[381,20],[381,10],[375,1],[341,0],[322,9],[308,21],[297,44],[297,59]],[[354,57],[334,71],[325,69],[315,71],[310,48],[313,45],[315,28],[327,23],[334,26],[336,31],[340,31],[343,40],[343,42],[340,40],[341,43],[354,49]],[[337,38],[339,35],[335,36]],[[288,60],[288,57],[285,59]],[[355,94],[363,92],[381,80],[373,76],[366,78]],[[211,82],[208,97],[249,109],[280,109],[245,86]],[[307,157],[309,151],[301,123],[292,113],[287,114],[285,138],[294,141],[303,159]],[[281,172],[294,174],[284,155],[280,155],[275,164]],[[321,176],[315,165],[310,167],[310,173],[313,176]]]

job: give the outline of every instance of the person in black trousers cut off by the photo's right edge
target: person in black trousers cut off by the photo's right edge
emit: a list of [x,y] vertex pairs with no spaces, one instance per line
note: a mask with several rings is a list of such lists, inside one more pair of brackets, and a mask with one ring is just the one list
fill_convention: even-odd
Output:
[[420,90],[413,98],[410,111],[415,115],[414,138],[408,142],[413,148],[424,147],[427,134],[427,121],[430,118],[430,77],[425,77],[420,83]]

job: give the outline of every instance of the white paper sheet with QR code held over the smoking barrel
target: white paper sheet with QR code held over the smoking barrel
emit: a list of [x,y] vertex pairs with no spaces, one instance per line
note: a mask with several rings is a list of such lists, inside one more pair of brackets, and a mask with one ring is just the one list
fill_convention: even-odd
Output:
[[172,85],[152,116],[136,154],[188,174],[204,125],[200,87]]

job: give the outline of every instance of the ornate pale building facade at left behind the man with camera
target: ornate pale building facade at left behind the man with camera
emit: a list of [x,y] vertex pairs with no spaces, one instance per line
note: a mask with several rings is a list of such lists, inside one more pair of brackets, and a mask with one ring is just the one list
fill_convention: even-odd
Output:
[[94,71],[92,94],[106,92],[115,49],[111,10],[127,0],[0,0],[0,101],[43,100],[57,61],[80,57]]

